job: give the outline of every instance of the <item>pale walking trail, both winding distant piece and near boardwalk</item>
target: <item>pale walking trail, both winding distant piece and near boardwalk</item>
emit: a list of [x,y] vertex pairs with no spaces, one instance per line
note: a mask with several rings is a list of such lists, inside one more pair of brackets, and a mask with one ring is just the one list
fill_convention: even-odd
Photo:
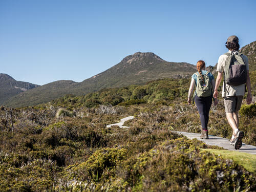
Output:
[[[119,123],[108,124],[108,125],[106,125],[106,127],[111,127],[113,125],[117,125],[120,128],[129,128],[129,126],[123,126],[123,123],[127,120],[130,120],[130,119],[134,119],[134,116],[129,116],[129,117],[122,118]],[[200,141],[202,141],[202,142],[204,142],[208,145],[217,145],[217,146],[223,147],[223,148],[225,148],[226,150],[229,150],[229,151],[237,151],[237,150],[234,149],[233,145],[229,144],[229,139],[226,139],[226,138],[209,135],[209,139],[201,139],[200,138],[200,135],[201,135],[200,133],[188,133],[188,132],[178,132],[178,131],[173,131],[173,132],[182,134],[182,135],[186,136],[188,139],[196,138],[196,139],[198,139],[198,140],[200,140]],[[246,143],[243,143],[242,147],[239,149],[239,152],[244,152],[244,153],[249,153],[249,154],[256,155],[256,146],[248,145]]]

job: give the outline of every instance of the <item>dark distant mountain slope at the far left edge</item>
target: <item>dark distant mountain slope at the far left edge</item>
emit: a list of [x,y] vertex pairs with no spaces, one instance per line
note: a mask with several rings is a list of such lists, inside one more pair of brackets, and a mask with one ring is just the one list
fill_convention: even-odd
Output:
[[16,81],[10,75],[0,73],[0,105],[9,98],[36,87],[39,86],[30,82]]

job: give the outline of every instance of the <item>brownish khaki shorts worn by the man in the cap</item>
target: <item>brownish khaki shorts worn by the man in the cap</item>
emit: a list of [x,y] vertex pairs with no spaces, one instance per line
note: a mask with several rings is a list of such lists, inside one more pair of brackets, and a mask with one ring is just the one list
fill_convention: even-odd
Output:
[[238,112],[241,108],[243,96],[224,97],[224,105],[226,113]]

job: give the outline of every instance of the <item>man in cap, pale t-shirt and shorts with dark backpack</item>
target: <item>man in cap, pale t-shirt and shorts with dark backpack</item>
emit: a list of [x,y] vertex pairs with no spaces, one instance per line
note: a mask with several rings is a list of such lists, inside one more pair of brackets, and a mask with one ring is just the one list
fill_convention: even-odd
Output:
[[248,58],[238,52],[240,48],[238,41],[238,37],[234,35],[227,38],[226,48],[228,52],[219,57],[217,64],[218,76],[214,90],[214,98],[217,99],[218,88],[224,76],[222,97],[224,98],[226,117],[233,131],[230,144],[233,144],[236,150],[242,146],[242,138],[244,137],[244,133],[238,129],[238,111],[240,110],[246,87],[248,91],[247,104],[250,104],[252,100]]

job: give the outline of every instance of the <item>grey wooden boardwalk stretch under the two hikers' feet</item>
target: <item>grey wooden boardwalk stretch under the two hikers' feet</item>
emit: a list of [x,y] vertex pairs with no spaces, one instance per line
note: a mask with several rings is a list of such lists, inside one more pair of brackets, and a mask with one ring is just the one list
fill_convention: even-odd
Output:
[[[175,132],[182,134],[189,139],[196,138],[200,141],[205,142],[208,145],[217,145],[217,146],[221,146],[221,147],[225,148],[226,150],[237,151],[234,149],[233,145],[229,144],[230,140],[226,139],[226,138],[209,135],[209,139],[200,139],[201,134],[199,134],[199,133],[187,133],[187,132],[177,132],[177,131],[175,131]],[[256,155],[256,146],[243,143],[242,147],[239,149],[239,152]]]

